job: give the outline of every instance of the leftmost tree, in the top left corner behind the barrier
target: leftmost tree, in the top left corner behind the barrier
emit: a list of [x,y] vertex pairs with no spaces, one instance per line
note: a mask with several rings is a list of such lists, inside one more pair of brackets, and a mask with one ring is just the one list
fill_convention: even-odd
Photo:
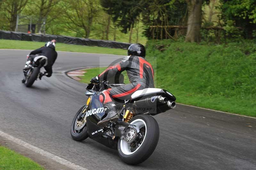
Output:
[[2,8],[5,11],[5,17],[10,23],[10,30],[15,31],[17,15],[19,15],[24,7],[26,6],[28,0],[4,0]]

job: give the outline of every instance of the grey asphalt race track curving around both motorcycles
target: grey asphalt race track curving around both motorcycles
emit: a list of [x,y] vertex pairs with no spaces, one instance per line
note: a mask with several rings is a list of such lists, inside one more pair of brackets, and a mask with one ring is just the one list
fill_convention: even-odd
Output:
[[0,50],[1,131],[89,170],[256,169],[256,119],[184,105],[155,116],[160,127],[158,145],[138,166],[126,165],[117,151],[91,139],[72,140],[70,123],[86,101],[85,85],[64,72],[107,66],[120,56],[58,52],[53,76],[26,88],[21,70],[28,53]]

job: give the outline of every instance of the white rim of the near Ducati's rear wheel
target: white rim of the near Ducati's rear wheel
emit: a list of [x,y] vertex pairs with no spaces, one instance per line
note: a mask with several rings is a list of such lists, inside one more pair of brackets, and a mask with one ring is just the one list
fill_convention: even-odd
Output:
[[[134,128],[137,130],[137,132],[140,132],[140,128],[143,128],[145,127],[146,131],[145,131],[145,135],[144,135],[144,139],[142,140],[140,146],[143,144],[144,140],[145,140],[145,137],[147,135],[147,125],[145,123],[144,120],[142,119],[136,119],[136,120],[133,120],[131,122],[132,125],[135,125]],[[131,155],[133,153],[135,153],[136,151],[138,151],[138,149],[140,148],[140,146],[135,150],[135,151],[131,151],[131,147],[129,146],[129,144],[127,142],[125,142],[124,140],[121,140],[120,141],[120,148],[121,148],[121,151],[123,152],[123,154],[125,155]]]

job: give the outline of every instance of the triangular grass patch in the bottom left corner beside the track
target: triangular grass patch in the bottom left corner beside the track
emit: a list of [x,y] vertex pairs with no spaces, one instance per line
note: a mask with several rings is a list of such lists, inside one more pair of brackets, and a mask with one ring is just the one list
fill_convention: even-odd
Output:
[[43,170],[44,168],[29,158],[0,146],[0,170]]

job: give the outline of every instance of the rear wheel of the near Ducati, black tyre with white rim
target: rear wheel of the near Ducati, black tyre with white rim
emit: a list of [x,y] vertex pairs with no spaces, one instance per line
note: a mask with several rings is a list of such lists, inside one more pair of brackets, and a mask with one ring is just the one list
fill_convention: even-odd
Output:
[[137,115],[129,123],[135,125],[134,128],[141,136],[140,141],[136,144],[129,144],[119,139],[117,150],[125,163],[136,165],[148,159],[156,149],[159,139],[159,126],[156,120],[147,114]]

